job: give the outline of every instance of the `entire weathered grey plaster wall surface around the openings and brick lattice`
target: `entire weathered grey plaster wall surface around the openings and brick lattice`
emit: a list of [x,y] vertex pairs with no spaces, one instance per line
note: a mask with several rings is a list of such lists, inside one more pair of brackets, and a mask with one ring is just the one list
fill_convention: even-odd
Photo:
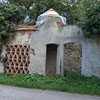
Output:
[[[16,31],[15,38],[10,38],[8,44],[30,45],[30,73],[45,75],[46,45],[56,44],[57,62],[56,74],[64,75],[64,44],[77,42],[82,45],[82,74],[100,77],[100,40],[98,37],[85,39],[82,30],[76,25],[62,25],[60,18],[48,18],[37,31]],[[4,48],[2,55],[5,55]],[[0,72],[4,67],[0,63]]]

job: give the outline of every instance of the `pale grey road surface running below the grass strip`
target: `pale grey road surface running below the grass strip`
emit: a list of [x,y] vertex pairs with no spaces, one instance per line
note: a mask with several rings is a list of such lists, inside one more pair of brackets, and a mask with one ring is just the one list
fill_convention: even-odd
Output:
[[0,100],[100,100],[100,97],[0,85]]

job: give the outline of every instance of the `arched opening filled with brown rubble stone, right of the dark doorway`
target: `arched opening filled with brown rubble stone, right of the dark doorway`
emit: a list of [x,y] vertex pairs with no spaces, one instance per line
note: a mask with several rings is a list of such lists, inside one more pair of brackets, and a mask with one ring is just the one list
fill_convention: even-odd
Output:
[[82,44],[67,43],[64,45],[64,70],[77,71],[82,66]]

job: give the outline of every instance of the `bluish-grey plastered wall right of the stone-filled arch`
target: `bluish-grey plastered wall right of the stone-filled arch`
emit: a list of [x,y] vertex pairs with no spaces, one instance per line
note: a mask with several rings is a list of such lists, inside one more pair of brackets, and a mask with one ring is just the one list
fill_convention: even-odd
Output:
[[100,38],[92,37],[84,41],[82,74],[100,78]]

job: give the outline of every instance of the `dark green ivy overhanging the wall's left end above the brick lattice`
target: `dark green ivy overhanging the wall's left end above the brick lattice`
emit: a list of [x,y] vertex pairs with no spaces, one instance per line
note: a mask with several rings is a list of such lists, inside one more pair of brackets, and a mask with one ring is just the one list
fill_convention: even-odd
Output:
[[0,40],[11,36],[14,25],[24,17],[24,10],[14,4],[0,4]]

